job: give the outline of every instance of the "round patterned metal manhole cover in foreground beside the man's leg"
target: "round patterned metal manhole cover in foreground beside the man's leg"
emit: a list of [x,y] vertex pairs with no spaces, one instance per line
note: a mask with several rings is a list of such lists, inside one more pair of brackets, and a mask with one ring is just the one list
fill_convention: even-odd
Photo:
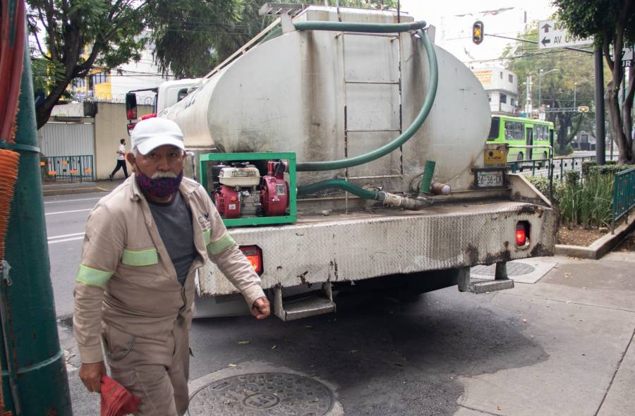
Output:
[[256,373],[227,377],[192,395],[191,416],[320,416],[331,410],[332,392],[308,377]]

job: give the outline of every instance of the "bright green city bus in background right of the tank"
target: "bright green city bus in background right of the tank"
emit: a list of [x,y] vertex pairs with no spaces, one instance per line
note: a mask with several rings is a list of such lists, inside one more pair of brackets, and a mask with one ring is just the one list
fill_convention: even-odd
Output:
[[[535,118],[492,116],[488,143],[552,145],[553,123]],[[547,159],[549,149],[509,149],[507,161]]]

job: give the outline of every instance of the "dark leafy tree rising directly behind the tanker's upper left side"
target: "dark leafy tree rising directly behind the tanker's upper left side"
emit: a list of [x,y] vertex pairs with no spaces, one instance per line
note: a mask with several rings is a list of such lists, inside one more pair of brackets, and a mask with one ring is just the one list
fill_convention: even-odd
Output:
[[[197,78],[270,25],[273,16],[259,16],[268,0],[162,0],[153,4],[148,25],[160,70],[176,78]],[[286,0],[307,4],[310,1]],[[324,4],[323,0],[313,0]],[[334,5],[334,1],[330,4]],[[340,0],[343,7],[397,9],[396,0]],[[187,45],[183,48],[183,45]]]

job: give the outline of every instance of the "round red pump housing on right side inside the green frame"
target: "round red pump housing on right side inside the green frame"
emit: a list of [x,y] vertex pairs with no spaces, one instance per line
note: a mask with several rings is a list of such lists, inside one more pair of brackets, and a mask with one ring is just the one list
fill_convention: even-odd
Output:
[[265,216],[286,214],[289,207],[289,184],[284,181],[284,161],[267,161],[267,175],[260,183],[260,204]]

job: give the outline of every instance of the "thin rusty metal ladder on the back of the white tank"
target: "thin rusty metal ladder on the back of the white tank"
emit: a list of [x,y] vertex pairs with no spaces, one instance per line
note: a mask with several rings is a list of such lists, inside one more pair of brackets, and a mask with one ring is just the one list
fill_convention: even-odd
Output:
[[[362,32],[340,32],[336,37],[341,36],[341,50],[342,50],[342,75],[344,76],[344,157],[349,157],[349,133],[363,133],[363,132],[387,132],[393,131],[395,136],[401,135],[403,131],[403,118],[402,118],[402,101],[401,101],[401,38],[399,33],[362,33]],[[375,37],[389,37],[391,42],[397,41],[397,59],[399,64],[397,66],[397,81],[373,81],[373,80],[347,80],[346,79],[346,36],[375,36]],[[346,100],[346,86],[349,84],[373,84],[373,85],[398,85],[399,86],[399,127],[380,129],[380,130],[364,130],[364,129],[350,129],[348,126],[348,103]],[[385,178],[403,178],[404,177],[404,153],[401,146],[399,146],[399,174],[397,175],[377,175],[377,176],[349,176],[349,168],[344,170],[344,181],[351,179],[385,179]],[[346,213],[349,212],[349,192],[344,193],[345,209]]]

